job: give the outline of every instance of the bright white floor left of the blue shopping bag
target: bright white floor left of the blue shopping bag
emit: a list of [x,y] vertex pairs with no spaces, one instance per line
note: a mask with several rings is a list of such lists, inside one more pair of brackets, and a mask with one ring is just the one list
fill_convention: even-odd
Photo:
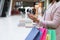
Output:
[[18,27],[19,15],[0,18],[0,40],[25,40],[31,28]]

